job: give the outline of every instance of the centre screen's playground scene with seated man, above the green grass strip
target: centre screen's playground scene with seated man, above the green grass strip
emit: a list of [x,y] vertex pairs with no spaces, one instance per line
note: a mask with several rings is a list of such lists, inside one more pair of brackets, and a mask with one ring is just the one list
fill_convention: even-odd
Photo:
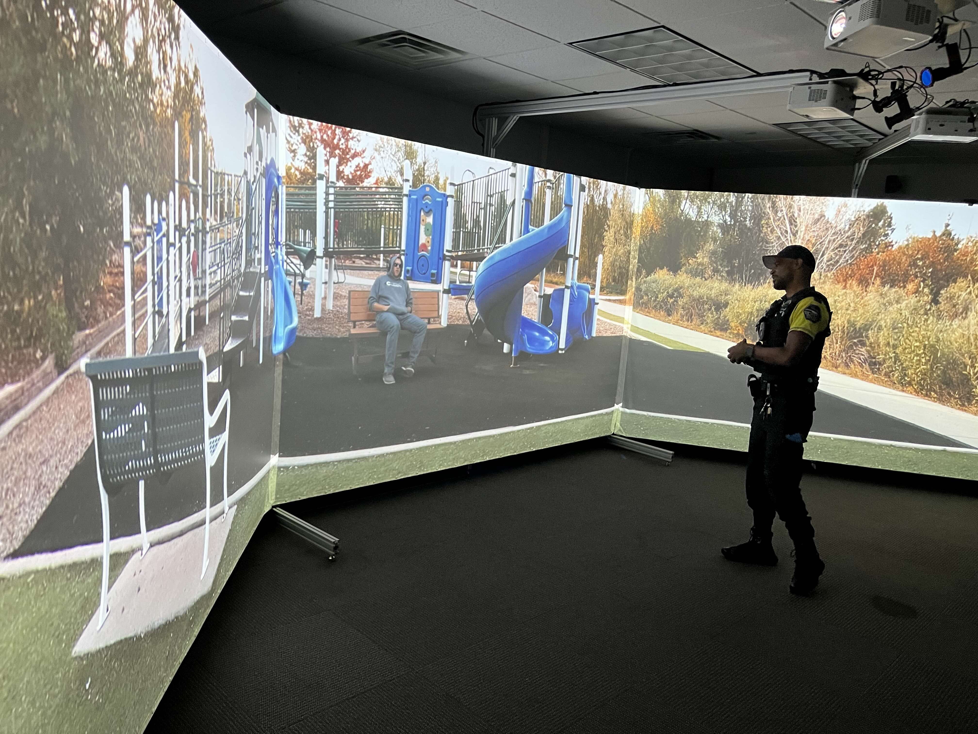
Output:
[[[623,329],[598,314],[607,298],[595,247],[603,233],[588,218],[589,188],[606,185],[477,157],[465,158],[499,169],[467,170],[457,182],[420,146],[390,139],[376,146],[386,160],[364,156],[385,173],[340,183],[343,161],[316,140],[300,151],[301,133],[329,131],[334,151],[342,151],[337,131],[368,136],[305,120],[289,126],[285,269],[298,328],[283,367],[283,457],[569,416],[599,414],[610,427]],[[289,183],[318,174],[318,188]],[[388,337],[408,293],[410,315],[396,316]]]

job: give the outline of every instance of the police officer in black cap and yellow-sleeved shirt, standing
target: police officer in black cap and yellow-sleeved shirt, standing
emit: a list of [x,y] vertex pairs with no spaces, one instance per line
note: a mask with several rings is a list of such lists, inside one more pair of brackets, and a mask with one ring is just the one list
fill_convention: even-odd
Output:
[[822,346],[830,334],[828,300],[812,288],[815,256],[791,245],[763,257],[776,290],[784,291],[758,322],[757,344],[733,344],[733,363],[748,364],[754,397],[747,453],[747,505],[754,513],[750,539],[722,549],[730,561],[775,566],[772,547],[775,514],[794,542],[793,594],[808,594],[819,583],[825,564],[815,546],[815,528],[801,496],[802,452],[812,428],[819,387]]

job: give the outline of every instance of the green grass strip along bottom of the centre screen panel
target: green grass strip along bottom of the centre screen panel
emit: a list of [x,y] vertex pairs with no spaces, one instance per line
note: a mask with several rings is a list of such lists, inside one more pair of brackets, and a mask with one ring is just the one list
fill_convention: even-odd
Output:
[[613,412],[609,410],[597,415],[516,427],[512,431],[491,436],[461,438],[304,466],[289,466],[289,461],[295,458],[282,457],[276,479],[275,504],[608,436],[612,422]]

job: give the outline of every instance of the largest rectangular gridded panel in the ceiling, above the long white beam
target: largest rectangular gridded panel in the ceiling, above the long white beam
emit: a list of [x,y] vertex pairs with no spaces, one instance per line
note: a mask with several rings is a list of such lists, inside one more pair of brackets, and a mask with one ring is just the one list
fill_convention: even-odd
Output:
[[754,73],[705,46],[658,25],[571,44],[582,51],[667,84],[733,79]]

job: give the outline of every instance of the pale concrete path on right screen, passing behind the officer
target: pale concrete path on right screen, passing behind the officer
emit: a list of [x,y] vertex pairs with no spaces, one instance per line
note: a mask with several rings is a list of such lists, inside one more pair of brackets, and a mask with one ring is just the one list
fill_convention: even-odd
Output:
[[[636,313],[630,306],[622,303],[602,300],[599,308],[599,313],[601,312],[624,319],[664,339],[689,344],[724,359],[727,358],[727,350],[733,345],[733,342],[726,339],[701,334],[692,329]],[[978,416],[907,392],[883,388],[826,369],[819,370],[819,381],[819,390],[823,392],[978,448]]]

